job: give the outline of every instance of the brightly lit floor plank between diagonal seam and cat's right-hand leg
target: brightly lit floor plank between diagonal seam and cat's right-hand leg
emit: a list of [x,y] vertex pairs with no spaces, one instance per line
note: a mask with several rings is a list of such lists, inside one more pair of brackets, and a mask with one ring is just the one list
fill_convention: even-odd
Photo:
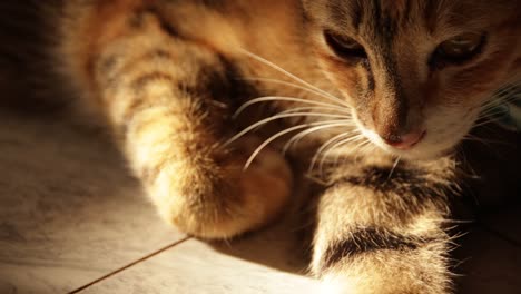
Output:
[[320,293],[306,277],[307,262],[298,203],[275,224],[229,242],[190,239],[89,287],[83,293],[260,294]]

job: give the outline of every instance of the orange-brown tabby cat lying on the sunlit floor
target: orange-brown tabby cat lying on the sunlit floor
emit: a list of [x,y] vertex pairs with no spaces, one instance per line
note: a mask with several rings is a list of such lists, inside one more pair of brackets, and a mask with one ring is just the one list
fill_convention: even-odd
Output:
[[458,150],[517,90],[520,1],[31,9],[55,88],[99,116],[166,222],[204,239],[274,222],[298,185],[287,151],[322,185],[309,267],[323,293],[453,292]]

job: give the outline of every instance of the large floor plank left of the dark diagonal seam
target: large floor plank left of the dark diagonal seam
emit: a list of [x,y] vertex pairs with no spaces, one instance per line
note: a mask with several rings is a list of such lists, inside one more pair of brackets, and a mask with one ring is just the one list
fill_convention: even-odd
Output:
[[184,237],[90,129],[0,115],[0,293],[66,293]]

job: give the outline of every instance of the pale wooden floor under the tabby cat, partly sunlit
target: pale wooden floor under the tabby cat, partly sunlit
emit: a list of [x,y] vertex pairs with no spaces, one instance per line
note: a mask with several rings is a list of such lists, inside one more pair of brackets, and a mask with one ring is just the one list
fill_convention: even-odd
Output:
[[[155,215],[95,130],[0,114],[0,293],[318,293],[291,217],[206,244]],[[458,293],[521,293],[521,207],[462,237]]]

